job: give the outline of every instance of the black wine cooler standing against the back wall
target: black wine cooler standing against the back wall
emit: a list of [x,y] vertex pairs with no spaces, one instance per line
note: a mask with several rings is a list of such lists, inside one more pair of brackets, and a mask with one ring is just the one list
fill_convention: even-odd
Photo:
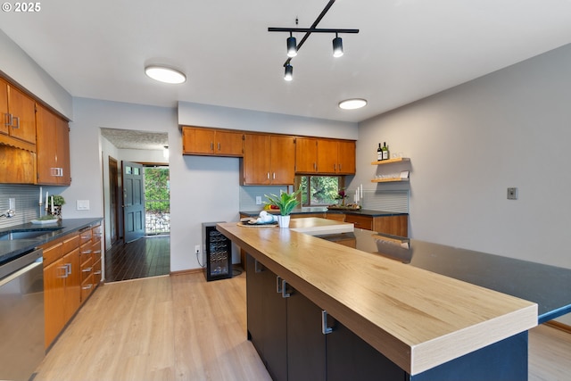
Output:
[[232,246],[230,240],[216,230],[219,222],[203,222],[203,253],[206,280],[232,277]]

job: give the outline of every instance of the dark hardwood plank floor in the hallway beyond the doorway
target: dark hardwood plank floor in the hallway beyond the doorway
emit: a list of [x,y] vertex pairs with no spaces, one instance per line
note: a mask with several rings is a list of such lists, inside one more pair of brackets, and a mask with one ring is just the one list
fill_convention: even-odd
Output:
[[145,236],[115,244],[105,253],[105,281],[156,277],[170,273],[170,236]]

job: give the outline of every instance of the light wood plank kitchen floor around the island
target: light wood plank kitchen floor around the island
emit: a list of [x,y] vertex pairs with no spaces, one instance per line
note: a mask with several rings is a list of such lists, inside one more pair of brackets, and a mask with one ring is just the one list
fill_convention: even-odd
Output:
[[[530,332],[529,379],[568,380],[571,335]],[[41,380],[270,380],[246,340],[245,274],[100,286],[37,369]]]

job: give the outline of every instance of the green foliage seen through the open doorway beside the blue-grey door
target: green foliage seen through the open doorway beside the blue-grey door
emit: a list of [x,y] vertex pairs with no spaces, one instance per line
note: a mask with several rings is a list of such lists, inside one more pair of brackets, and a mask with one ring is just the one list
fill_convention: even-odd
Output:
[[145,168],[146,211],[153,213],[170,212],[169,168]]

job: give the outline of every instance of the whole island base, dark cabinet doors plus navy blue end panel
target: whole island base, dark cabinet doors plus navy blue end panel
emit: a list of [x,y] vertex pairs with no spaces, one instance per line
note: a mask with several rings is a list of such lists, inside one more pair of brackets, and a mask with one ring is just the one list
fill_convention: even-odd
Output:
[[324,335],[319,306],[249,254],[246,268],[248,340],[274,381],[527,379],[526,331],[411,376],[334,317]]

